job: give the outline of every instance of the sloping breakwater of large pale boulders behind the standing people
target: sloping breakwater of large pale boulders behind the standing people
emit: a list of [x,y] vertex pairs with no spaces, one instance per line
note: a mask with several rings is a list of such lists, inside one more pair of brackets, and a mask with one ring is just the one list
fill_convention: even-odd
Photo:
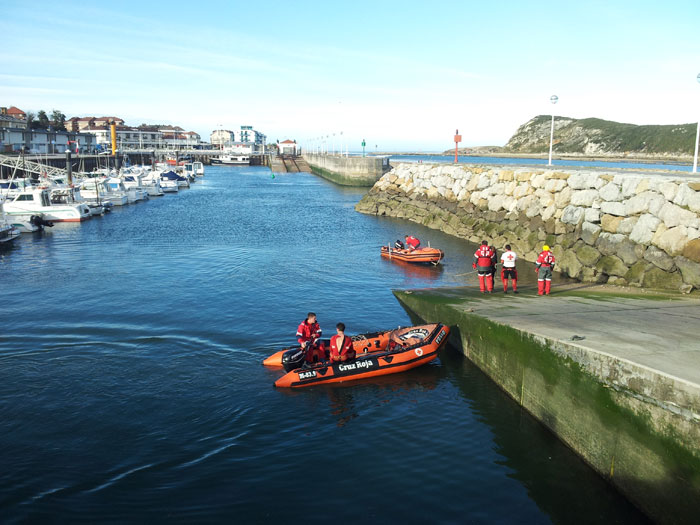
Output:
[[406,218],[585,282],[700,288],[700,178],[669,173],[399,164],[356,210]]

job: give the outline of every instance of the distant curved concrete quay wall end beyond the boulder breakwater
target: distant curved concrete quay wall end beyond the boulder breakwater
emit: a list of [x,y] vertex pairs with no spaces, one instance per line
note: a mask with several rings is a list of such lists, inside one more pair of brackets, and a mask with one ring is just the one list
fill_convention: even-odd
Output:
[[343,186],[372,186],[388,169],[385,157],[304,153],[303,158],[313,173]]

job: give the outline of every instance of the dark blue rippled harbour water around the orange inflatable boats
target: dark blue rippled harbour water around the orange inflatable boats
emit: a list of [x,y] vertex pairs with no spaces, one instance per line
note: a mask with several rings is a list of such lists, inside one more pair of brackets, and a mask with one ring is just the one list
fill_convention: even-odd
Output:
[[[307,311],[410,323],[391,288],[474,285],[472,246],[358,214],[364,190],[210,167],[179,195],[0,252],[0,521],[639,523],[454,349],[276,390]],[[379,257],[407,232],[441,268]],[[530,273],[530,272],[527,272]]]

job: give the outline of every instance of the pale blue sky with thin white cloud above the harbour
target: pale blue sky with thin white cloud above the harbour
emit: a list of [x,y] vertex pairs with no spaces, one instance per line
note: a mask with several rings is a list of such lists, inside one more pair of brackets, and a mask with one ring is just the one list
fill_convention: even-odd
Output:
[[[4,0],[0,105],[307,148],[504,145],[536,115],[700,119],[700,2]],[[550,103],[556,94],[559,101]],[[326,138],[327,137],[327,138]]]

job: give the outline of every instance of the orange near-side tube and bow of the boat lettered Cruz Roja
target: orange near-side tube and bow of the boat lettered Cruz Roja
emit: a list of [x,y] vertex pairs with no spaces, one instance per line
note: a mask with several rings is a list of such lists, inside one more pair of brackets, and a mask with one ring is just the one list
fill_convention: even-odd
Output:
[[[417,342],[403,346],[400,339],[397,339],[399,344],[392,347],[392,343],[396,343],[395,334],[397,332],[410,334],[428,331],[429,327],[434,328],[428,332],[426,337]],[[450,329],[447,326],[439,323],[400,331],[394,330],[390,335],[387,348],[382,352],[369,353],[347,362],[317,363],[313,366],[292,370],[275,381],[274,385],[278,388],[303,388],[405,372],[435,359],[438,350],[447,342],[449,332]],[[409,338],[407,341],[410,343],[411,339]]]

